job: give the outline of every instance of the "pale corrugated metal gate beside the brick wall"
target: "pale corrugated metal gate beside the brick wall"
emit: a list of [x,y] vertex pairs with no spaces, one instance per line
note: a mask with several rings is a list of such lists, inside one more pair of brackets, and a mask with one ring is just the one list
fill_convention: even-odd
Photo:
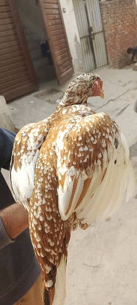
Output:
[[99,0],[73,0],[85,72],[108,63]]

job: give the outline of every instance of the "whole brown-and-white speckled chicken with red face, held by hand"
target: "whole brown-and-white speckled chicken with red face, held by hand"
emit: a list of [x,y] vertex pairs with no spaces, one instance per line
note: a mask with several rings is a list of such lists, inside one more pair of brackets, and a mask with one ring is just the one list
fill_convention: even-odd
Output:
[[64,304],[71,231],[110,216],[134,192],[126,140],[109,115],[87,107],[93,96],[104,97],[102,80],[80,75],[56,111],[23,127],[14,142],[11,187],[28,209],[45,305]]

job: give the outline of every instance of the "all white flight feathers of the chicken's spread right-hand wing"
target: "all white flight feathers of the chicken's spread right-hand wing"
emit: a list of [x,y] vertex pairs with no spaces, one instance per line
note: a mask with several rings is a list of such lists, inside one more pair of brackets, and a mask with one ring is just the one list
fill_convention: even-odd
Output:
[[[129,148],[126,143],[125,137],[120,133],[119,143],[116,148],[114,143],[108,147],[108,153],[104,151],[104,169],[100,165],[96,167],[96,171],[89,176],[85,172],[75,172],[75,176],[70,177],[70,170],[63,168],[65,172],[65,179],[63,188],[61,185],[58,187],[58,207],[62,220],[67,220],[73,212],[81,222],[92,224],[99,217],[108,217],[112,215],[123,199],[126,197],[128,201],[134,194],[135,178],[129,160]],[[108,162],[109,158],[109,162]],[[74,168],[75,169],[75,168]],[[107,169],[107,171],[106,171]],[[92,170],[92,169],[91,169]],[[105,177],[104,173],[106,171]],[[62,172],[61,167],[58,168],[58,173]],[[71,202],[75,177],[78,178],[77,188]],[[83,190],[84,181],[86,178],[91,177],[91,183],[88,187],[83,200],[77,206],[77,202]],[[76,207],[77,206],[77,207]],[[66,214],[67,208],[68,212]]]

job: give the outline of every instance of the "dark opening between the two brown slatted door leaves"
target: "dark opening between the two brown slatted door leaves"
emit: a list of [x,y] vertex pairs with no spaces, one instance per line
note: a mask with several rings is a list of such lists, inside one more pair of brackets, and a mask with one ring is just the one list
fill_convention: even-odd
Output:
[[40,3],[38,0],[17,0],[17,10],[38,82],[56,78],[53,60],[42,52],[48,37]]

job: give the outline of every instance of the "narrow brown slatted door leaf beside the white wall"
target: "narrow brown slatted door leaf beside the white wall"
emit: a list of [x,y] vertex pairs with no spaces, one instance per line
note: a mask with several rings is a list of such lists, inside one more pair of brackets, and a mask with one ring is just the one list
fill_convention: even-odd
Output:
[[58,83],[62,84],[72,77],[74,69],[59,0],[39,1]]

